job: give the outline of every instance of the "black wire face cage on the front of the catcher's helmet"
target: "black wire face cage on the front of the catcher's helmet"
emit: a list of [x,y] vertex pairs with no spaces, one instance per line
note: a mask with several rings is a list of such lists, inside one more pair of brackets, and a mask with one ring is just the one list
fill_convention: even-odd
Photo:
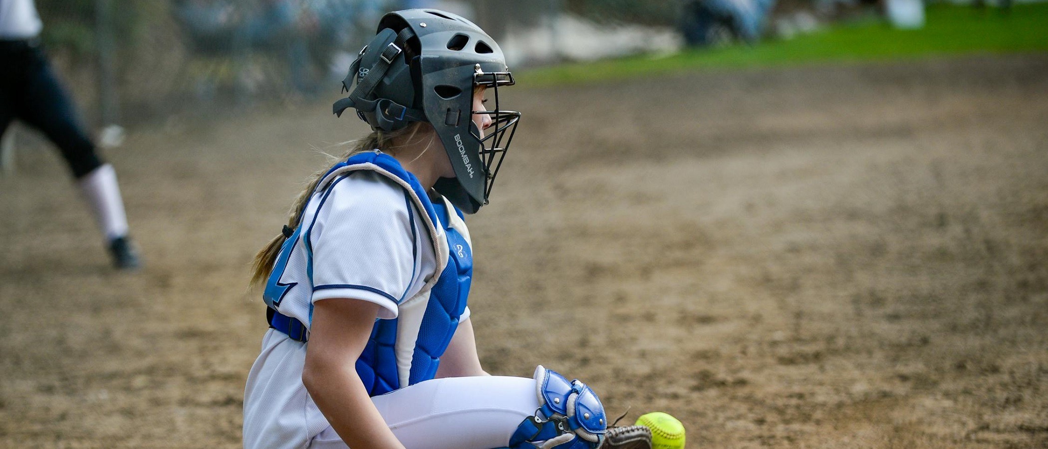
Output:
[[[492,185],[495,183],[495,176],[499,174],[502,166],[502,159],[506,157],[506,150],[517,132],[517,121],[521,118],[521,113],[517,111],[503,111],[499,108],[499,86],[512,86],[516,84],[512,73],[505,72],[484,72],[477,65],[477,72],[473,75],[474,86],[483,86],[493,92],[495,109],[487,111],[473,111],[474,114],[484,114],[492,117],[492,125],[484,130],[481,137],[476,127],[470,128],[470,134],[480,143],[480,160],[484,166],[486,178],[484,179],[484,204],[487,204],[487,197],[492,194]],[[494,165],[494,167],[493,167]]]

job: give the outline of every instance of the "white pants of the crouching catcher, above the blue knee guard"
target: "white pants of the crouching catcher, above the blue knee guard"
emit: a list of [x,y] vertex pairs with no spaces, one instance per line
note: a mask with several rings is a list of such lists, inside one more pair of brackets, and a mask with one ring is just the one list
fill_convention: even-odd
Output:
[[[302,384],[305,344],[269,330],[244,391],[244,447],[347,446]],[[408,449],[492,449],[505,446],[539,408],[533,379],[434,379],[371,398]]]

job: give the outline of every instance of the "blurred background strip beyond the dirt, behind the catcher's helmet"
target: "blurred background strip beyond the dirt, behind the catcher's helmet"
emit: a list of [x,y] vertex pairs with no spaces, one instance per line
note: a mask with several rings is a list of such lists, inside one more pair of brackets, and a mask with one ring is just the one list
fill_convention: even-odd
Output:
[[888,18],[897,27],[924,21],[921,0],[37,3],[46,19],[42,39],[60,70],[79,81],[74,95],[88,103],[96,126],[329,92],[374,32],[376,19],[396,8],[436,7],[475,19],[503,43],[514,69],[685,46],[754,45],[842,21]]

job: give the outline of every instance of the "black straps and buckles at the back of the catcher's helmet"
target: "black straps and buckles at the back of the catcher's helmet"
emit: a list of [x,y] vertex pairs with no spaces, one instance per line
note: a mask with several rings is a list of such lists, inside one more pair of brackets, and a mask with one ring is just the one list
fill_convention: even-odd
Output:
[[[361,50],[361,53],[357,54],[356,61],[353,61],[353,64],[350,66],[346,78],[342,81],[343,89],[349,91],[350,86],[354,82],[356,82],[356,88],[350,91],[349,96],[335,102],[331,108],[332,112],[341,117],[347,108],[355,108],[356,115],[362,120],[386,132],[400,129],[412,121],[429,121],[425,118],[425,113],[421,110],[409,108],[388,98],[367,99],[368,96],[371,96],[375,87],[378,86],[383,76],[386,76],[386,72],[389,70],[390,65],[393,64],[393,61],[403,52],[403,48],[407,48],[408,40],[414,36],[415,32],[411,30],[411,27],[401,29],[397,33],[396,39],[390,42],[386,48],[383,48],[381,54],[378,55],[378,61],[368,69],[367,74],[359,82],[356,82],[358,80],[357,74],[361,71],[361,60],[364,58],[364,53],[368,51],[368,47],[365,46]],[[369,116],[372,119],[369,119]]]

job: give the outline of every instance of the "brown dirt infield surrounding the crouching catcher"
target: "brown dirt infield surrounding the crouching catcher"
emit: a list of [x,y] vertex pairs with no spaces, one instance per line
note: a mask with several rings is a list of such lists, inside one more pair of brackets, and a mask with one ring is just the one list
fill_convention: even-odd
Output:
[[[1048,57],[507,90],[470,218],[482,362],[664,410],[689,447],[1048,446]],[[327,103],[171,119],[109,152],[115,273],[50,151],[0,179],[0,446],[238,447],[247,262]],[[330,150],[337,151],[337,150]]]

